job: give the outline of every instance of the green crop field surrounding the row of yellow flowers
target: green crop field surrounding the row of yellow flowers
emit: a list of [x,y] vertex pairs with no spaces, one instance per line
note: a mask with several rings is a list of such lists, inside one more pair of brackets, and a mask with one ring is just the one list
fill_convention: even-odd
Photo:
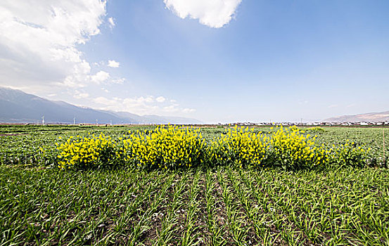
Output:
[[[128,129],[1,126],[0,244],[389,245],[380,128],[314,131],[318,145],[371,148],[365,168],[65,171],[38,154],[59,136]],[[210,140],[224,129],[201,131]]]

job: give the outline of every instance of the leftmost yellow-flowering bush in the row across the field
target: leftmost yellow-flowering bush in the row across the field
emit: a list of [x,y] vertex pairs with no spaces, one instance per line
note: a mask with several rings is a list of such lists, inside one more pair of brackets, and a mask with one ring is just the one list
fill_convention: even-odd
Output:
[[100,134],[88,137],[70,136],[68,141],[57,145],[58,167],[82,168],[98,164],[112,164],[120,153],[115,151],[115,142],[110,136]]

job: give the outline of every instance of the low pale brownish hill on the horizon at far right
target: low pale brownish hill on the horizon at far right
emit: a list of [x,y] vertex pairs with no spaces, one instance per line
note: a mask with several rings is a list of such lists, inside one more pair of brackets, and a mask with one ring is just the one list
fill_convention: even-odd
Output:
[[323,122],[389,122],[389,111],[368,112],[361,115],[343,115],[324,119]]

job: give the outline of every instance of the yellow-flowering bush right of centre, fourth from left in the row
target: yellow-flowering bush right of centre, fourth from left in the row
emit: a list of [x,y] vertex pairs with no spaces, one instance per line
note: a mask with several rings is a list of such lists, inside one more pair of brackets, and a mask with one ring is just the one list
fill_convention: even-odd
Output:
[[324,145],[314,145],[317,136],[311,138],[310,134],[304,133],[298,127],[284,129],[282,126],[272,133],[270,144],[275,164],[284,169],[296,169],[326,164],[329,161],[329,150]]

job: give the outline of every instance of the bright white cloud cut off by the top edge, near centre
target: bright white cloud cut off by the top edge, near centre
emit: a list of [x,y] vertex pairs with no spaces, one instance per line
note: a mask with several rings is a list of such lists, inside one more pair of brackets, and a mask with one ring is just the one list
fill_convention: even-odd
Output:
[[177,16],[198,19],[208,27],[223,27],[233,17],[242,0],[164,0]]

